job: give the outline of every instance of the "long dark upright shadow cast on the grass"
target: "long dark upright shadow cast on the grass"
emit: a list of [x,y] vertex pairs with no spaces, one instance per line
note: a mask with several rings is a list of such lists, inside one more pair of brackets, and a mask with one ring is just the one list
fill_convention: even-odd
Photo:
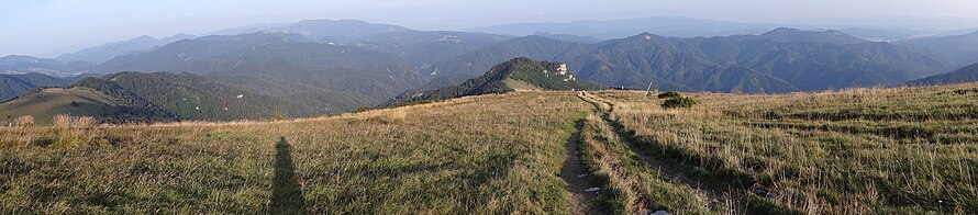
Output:
[[275,145],[275,179],[271,184],[271,214],[309,214],[302,188],[296,180],[292,146],[281,137]]

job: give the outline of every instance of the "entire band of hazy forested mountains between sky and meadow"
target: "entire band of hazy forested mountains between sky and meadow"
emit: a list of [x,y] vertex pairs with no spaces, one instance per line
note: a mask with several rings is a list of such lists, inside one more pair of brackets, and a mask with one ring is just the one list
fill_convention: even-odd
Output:
[[[714,24],[724,23],[704,26]],[[310,116],[359,106],[526,88],[564,89],[512,78],[525,72],[512,76],[497,68],[500,63],[523,65],[513,63],[514,59],[566,64],[567,70],[575,72],[575,79],[593,82],[597,88],[645,89],[651,84],[659,90],[737,93],[894,86],[978,61],[969,57],[973,49],[978,48],[970,43],[975,34],[888,43],[843,31],[778,27],[727,36],[670,37],[641,33],[599,41],[598,36],[562,32],[534,31],[526,33],[533,34],[529,36],[508,36],[418,31],[353,20],[255,25],[222,32],[230,35],[140,37],[58,57],[76,60],[69,63],[30,56],[2,57],[0,69],[4,73],[35,73],[30,75],[33,78],[2,77],[5,86],[0,86],[0,92],[11,99],[31,88],[65,87],[71,81],[101,79],[153,105],[111,102],[130,101],[125,99],[102,103],[140,106],[173,116],[137,111],[154,114],[152,117],[130,114],[133,117],[129,120],[113,121],[223,121],[265,118],[276,112],[290,117]],[[964,45],[951,47],[948,44]],[[549,67],[534,68],[553,70]],[[58,78],[40,77],[40,73]],[[504,73],[501,76],[504,78],[487,77],[490,73]],[[62,81],[45,82],[45,78]],[[84,94],[97,88],[76,83],[62,89],[47,91]],[[100,93],[105,97],[99,97],[110,99],[118,95]],[[249,94],[253,97],[246,98],[255,100],[226,100],[227,94],[235,93]],[[422,95],[418,97],[419,93]],[[193,98],[190,95],[202,99],[198,100],[203,102],[201,110],[197,110],[197,104],[187,106],[190,104],[182,100],[173,102],[174,97],[189,100]],[[102,105],[102,109],[108,108]]]

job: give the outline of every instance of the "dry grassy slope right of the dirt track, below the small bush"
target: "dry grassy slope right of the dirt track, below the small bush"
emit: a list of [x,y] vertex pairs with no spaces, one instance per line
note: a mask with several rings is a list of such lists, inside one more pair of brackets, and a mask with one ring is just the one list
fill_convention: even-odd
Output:
[[[746,182],[807,213],[978,208],[978,83],[790,95],[692,94],[664,110],[604,92],[613,118],[656,156],[698,177]],[[753,184],[753,185],[752,185]]]

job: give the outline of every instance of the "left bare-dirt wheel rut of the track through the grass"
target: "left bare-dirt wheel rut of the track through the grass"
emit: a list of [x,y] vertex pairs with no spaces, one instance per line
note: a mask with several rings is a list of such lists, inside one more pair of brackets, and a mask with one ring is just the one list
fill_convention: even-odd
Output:
[[567,139],[567,159],[564,160],[564,168],[560,169],[560,178],[567,182],[567,192],[570,192],[570,214],[603,214],[588,205],[594,199],[598,192],[587,192],[585,190],[597,188],[598,184],[591,181],[590,174],[580,159],[578,150],[578,139],[580,138],[580,128],[582,122],[577,123],[576,131],[570,134]]

